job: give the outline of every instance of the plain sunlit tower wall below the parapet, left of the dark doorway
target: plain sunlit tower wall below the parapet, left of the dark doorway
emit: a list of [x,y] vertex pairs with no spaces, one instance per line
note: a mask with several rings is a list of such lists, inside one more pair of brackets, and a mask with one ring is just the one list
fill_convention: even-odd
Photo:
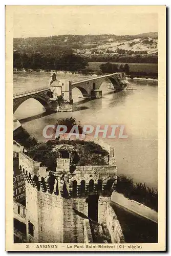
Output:
[[[26,223],[33,225],[34,243],[83,243],[84,219],[74,209],[88,215],[86,198],[65,199],[26,185]],[[74,209],[73,209],[74,208]],[[27,229],[28,240],[29,230]]]

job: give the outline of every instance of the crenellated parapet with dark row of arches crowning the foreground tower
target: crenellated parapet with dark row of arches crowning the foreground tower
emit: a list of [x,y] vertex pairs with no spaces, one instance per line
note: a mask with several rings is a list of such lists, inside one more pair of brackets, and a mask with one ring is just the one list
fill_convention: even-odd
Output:
[[114,148],[109,150],[107,165],[71,166],[70,158],[57,158],[56,162],[56,171],[52,172],[25,153],[19,153],[19,169],[28,184],[38,191],[70,198],[94,194],[110,196],[114,190],[117,179]]

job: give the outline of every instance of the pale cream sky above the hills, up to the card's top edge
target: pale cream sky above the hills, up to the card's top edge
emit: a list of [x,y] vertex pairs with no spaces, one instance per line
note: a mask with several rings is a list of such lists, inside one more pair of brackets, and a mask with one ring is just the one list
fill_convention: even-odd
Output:
[[13,37],[63,34],[135,35],[158,31],[157,13],[130,12],[113,6],[54,7],[14,12]]

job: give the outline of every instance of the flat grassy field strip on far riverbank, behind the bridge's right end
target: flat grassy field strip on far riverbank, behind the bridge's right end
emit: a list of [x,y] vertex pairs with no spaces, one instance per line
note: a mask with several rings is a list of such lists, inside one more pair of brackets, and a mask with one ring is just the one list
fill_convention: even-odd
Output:
[[[106,63],[106,62],[89,62],[89,66],[87,67],[87,69],[92,69],[94,71],[100,71],[100,65],[102,63]],[[114,63],[116,65],[118,65],[118,67],[120,67],[120,65],[124,65],[125,63],[123,62],[111,62]],[[130,72],[145,72],[145,73],[158,73],[158,65],[154,64],[154,63],[127,63],[130,67]]]

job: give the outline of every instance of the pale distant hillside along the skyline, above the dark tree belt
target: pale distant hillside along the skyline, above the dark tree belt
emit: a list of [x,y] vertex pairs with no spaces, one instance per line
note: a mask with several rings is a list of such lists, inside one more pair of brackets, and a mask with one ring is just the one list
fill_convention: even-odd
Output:
[[[148,40],[148,42],[144,41]],[[39,52],[40,54],[54,54],[62,55],[63,53],[81,53],[76,50],[86,50],[86,54],[89,54],[88,50],[95,50],[109,48],[110,44],[115,43],[119,49],[123,48],[125,42],[136,45],[138,41],[142,41],[142,44],[148,46],[150,44],[156,44],[158,40],[158,33],[145,33],[140,35],[58,35],[48,37],[29,37],[29,38],[14,38],[14,50],[19,52],[26,52],[32,54]],[[152,46],[151,45],[151,46]],[[96,50],[97,50],[96,49]],[[131,49],[130,49],[131,50]],[[141,51],[141,50],[140,50]],[[90,52],[91,53],[91,52]],[[119,53],[119,52],[118,52]],[[94,53],[93,53],[94,54]]]

